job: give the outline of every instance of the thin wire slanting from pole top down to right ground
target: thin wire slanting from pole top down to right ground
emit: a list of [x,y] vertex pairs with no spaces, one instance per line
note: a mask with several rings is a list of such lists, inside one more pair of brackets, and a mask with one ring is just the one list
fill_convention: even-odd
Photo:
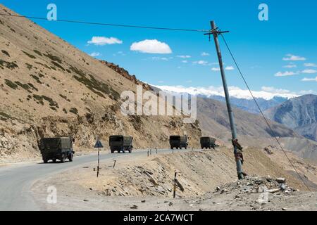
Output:
[[[220,35],[221,35],[221,37],[223,37],[223,34],[220,34]],[[273,129],[272,129],[270,123],[268,122],[268,120],[267,120],[266,117],[264,116],[263,111],[261,110],[261,108],[260,108],[260,106],[259,106],[259,103],[256,101],[256,98],[254,97],[254,95],[253,95],[251,89],[249,88],[249,84],[247,84],[247,80],[244,78],[244,75],[242,74],[242,72],[241,72],[241,70],[240,70],[240,67],[239,67],[239,65],[237,64],[237,61],[235,60],[235,57],[233,56],[232,51],[230,50],[230,48],[229,48],[229,46],[228,46],[228,44],[227,44],[227,41],[225,41],[225,37],[223,37],[223,41],[225,42],[225,46],[227,47],[227,49],[228,49],[228,51],[229,51],[229,53],[230,53],[230,56],[232,57],[232,60],[235,62],[235,65],[237,66],[237,70],[239,71],[239,73],[240,73],[240,75],[241,75],[241,77],[242,77],[242,79],[243,79],[243,81],[244,81],[244,84],[247,86],[247,89],[249,90],[249,92],[250,92],[250,94],[251,94],[251,96],[252,96],[252,98],[253,98],[253,100],[254,100],[254,103],[256,103],[257,108],[259,109],[259,111],[260,111],[260,113],[261,113],[263,119],[265,120],[266,124],[268,125],[268,128],[271,130],[271,133],[273,134],[273,136],[274,136],[276,142],[278,143],[278,145],[279,145],[280,148],[282,149],[282,152],[285,154],[287,160],[290,162],[290,165],[292,165],[294,171],[297,173],[297,175],[299,176],[299,178],[302,180],[304,186],[306,186],[306,188],[307,188],[310,192],[312,192],[311,189],[309,188],[309,186],[305,183],[305,181],[304,181],[304,179],[302,178],[302,176],[300,176],[299,172],[297,172],[297,169],[296,169],[295,166],[293,165],[293,163],[292,163],[292,161],[290,160],[290,158],[288,158],[288,156],[287,156],[287,154],[286,154],[284,148],[282,147],[280,141],[278,141],[278,137],[275,135],[275,131],[273,131]]]

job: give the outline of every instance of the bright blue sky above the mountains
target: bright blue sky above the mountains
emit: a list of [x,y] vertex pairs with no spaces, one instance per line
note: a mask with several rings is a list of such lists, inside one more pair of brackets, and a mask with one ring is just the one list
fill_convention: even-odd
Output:
[[[266,86],[277,92],[280,90],[275,89],[297,94],[317,92],[317,1],[4,0],[1,3],[22,15],[44,18],[46,6],[54,3],[59,19],[99,23],[209,29],[209,21],[216,20],[222,30],[230,30],[225,38],[251,89],[260,91]],[[258,18],[261,3],[268,5],[268,21]],[[222,85],[220,72],[213,71],[218,68],[215,46],[202,33],[35,22],[86,53],[99,53],[97,58],[117,63],[144,82],[168,86]],[[114,41],[106,39],[106,42],[117,44],[88,44],[92,37],[114,37]],[[168,49],[163,49],[163,53],[130,50],[133,43],[146,39],[161,42],[154,43],[154,46],[159,44],[156,52],[167,45],[171,53]],[[228,84],[245,89],[223,41],[220,47],[225,65],[234,68],[226,70]],[[137,44],[136,49],[139,48],[147,46],[141,42]],[[307,81],[302,81],[305,78]]]

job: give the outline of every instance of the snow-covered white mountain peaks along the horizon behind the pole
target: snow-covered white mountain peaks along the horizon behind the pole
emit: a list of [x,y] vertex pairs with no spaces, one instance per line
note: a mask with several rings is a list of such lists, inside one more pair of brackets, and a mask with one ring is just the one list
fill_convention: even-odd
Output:
[[[156,86],[156,85],[153,85]],[[208,86],[208,87],[185,87],[185,86],[156,86],[157,88],[167,91],[174,94],[182,94],[188,93],[192,95],[202,95],[206,97],[210,96],[225,96],[223,92],[222,86]],[[228,87],[230,96],[235,98],[244,98],[244,99],[252,99],[249,90],[247,89],[240,89],[237,86],[229,86]],[[266,100],[272,99],[275,96],[280,96],[284,98],[294,98],[299,96],[297,93],[293,93],[291,91],[285,89],[275,89],[274,87],[266,87],[263,86],[261,91],[252,91],[256,98],[264,98]]]

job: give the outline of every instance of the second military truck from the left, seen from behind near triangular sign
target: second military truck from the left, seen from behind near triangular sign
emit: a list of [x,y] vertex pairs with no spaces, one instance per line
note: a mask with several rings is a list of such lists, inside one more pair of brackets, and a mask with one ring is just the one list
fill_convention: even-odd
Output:
[[125,153],[126,150],[132,153],[132,136],[113,135],[109,137],[109,146],[111,153],[118,151],[118,153]]

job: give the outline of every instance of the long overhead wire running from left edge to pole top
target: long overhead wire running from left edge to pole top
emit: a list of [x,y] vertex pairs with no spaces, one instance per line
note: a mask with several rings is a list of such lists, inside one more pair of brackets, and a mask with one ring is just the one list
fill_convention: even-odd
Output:
[[[27,15],[9,15],[0,13],[0,15],[16,17],[16,18],[27,18],[33,20],[47,20],[47,18],[40,18]],[[123,24],[113,24],[113,23],[94,23],[80,20],[53,20],[54,22],[64,22],[64,23],[80,23],[85,25],[101,25],[101,26],[111,26],[111,27],[130,27],[130,28],[140,28],[140,29],[151,29],[151,30],[173,30],[173,31],[184,31],[184,32],[209,32],[209,30],[195,30],[195,29],[182,29],[182,28],[170,28],[170,27],[149,27],[149,26],[139,26],[139,25],[123,25]]]

